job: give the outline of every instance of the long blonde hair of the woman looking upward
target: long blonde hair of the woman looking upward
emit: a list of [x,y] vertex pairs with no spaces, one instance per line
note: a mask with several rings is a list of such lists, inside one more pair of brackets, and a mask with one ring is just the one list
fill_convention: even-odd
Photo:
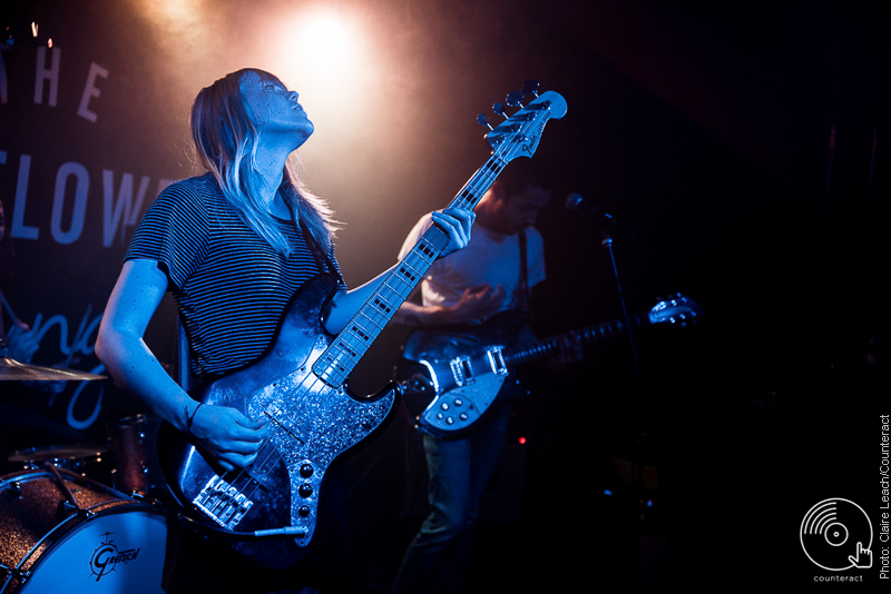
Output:
[[[255,72],[263,81],[282,85],[273,75],[252,68],[231,72],[205,87],[192,106],[192,139],[200,161],[216,178],[223,196],[242,220],[276,251],[290,256],[287,239],[256,190],[260,187],[256,167],[260,132],[247,112],[241,89],[242,77],[248,72]],[[337,222],[327,204],[306,189],[298,168],[300,158],[295,151],[285,164],[280,191],[297,220],[305,224],[320,246],[329,249]]]

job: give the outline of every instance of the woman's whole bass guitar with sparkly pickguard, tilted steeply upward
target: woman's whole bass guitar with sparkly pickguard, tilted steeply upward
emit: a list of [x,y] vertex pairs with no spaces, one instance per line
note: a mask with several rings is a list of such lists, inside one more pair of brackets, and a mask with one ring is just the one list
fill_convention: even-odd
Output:
[[[523,93],[511,93],[509,105],[520,109],[487,135],[491,157],[449,207],[472,210],[509,161],[532,156],[548,120],[566,113],[560,95],[526,90],[536,98],[522,107],[517,99]],[[317,529],[326,473],[384,426],[400,395],[391,383],[359,397],[346,379],[447,244],[446,234],[431,227],[336,337],[321,321],[336,281],[321,276],[307,283],[258,362],[193,392],[202,403],[267,419],[270,432],[256,461],[229,473],[208,463],[182,434],[167,432],[165,474],[187,521],[264,567],[287,567],[305,555]]]

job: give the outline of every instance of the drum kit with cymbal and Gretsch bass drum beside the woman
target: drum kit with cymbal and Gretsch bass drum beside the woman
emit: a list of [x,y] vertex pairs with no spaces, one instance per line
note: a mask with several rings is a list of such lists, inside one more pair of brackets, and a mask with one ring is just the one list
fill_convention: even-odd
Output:
[[[0,357],[0,380],[95,380],[105,376]],[[20,469],[0,476],[0,594],[163,592],[167,512],[155,447],[160,419],[106,424],[106,446],[9,452]],[[110,454],[110,456],[109,456]],[[112,468],[96,472],[102,459]]]

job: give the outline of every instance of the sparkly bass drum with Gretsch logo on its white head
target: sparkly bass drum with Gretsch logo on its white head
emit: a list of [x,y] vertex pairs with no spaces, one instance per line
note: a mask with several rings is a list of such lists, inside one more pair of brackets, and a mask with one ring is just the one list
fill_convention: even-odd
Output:
[[163,593],[166,514],[61,469],[0,477],[0,593]]

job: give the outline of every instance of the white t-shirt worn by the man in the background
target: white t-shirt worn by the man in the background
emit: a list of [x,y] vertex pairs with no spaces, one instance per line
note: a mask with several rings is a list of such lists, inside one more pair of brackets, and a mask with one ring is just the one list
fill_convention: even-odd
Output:
[[[421,217],[402,245],[402,259],[430,228],[430,215]],[[545,280],[545,244],[538,229],[526,229],[528,284],[532,288]],[[517,287],[520,284],[519,235],[501,235],[476,225],[470,242],[453,254],[440,258],[421,283],[423,305],[451,306],[459,301],[464,289],[489,284],[501,285],[508,294],[501,310],[516,309]]]

